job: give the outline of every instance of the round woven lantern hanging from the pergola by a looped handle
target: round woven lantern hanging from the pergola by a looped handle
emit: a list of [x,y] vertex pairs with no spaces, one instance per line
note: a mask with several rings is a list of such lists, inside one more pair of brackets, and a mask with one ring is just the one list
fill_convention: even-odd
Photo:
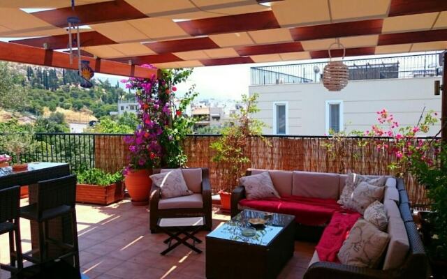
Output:
[[[332,45],[339,45],[339,47],[343,47],[343,57],[346,54],[346,50],[344,45],[341,43],[332,43]],[[329,91],[340,91],[346,87],[349,80],[349,69],[343,61],[332,61],[332,56],[330,55],[330,47],[329,46],[329,63],[323,69],[323,86]]]

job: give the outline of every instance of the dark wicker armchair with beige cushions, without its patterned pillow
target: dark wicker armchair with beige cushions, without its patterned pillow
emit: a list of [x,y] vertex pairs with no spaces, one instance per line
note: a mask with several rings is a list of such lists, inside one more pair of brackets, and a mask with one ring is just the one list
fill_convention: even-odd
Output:
[[[154,174],[166,172],[168,169],[154,169]],[[186,185],[193,191],[193,195],[161,199],[160,189],[152,184],[149,197],[149,228],[152,233],[158,232],[156,228],[160,218],[181,218],[203,216],[204,229],[212,228],[212,202],[210,175],[207,168],[182,169]]]

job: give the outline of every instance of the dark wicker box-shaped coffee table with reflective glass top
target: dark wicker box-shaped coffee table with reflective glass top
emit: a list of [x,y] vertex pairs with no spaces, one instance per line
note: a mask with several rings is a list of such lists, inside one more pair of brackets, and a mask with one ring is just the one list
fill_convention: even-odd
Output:
[[249,218],[265,212],[244,210],[206,236],[207,278],[276,278],[295,250],[295,217],[272,214],[256,235],[242,236]]

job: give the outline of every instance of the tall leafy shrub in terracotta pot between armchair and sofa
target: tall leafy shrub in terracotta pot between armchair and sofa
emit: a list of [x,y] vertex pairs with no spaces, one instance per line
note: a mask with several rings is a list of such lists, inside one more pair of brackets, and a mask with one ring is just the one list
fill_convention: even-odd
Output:
[[222,136],[210,145],[216,153],[212,160],[221,165],[224,187],[219,190],[221,209],[230,210],[231,192],[244,176],[249,166],[248,150],[251,137],[261,137],[265,123],[250,118],[259,111],[256,107],[258,94],[242,95],[242,107],[231,115],[234,123],[222,130]]

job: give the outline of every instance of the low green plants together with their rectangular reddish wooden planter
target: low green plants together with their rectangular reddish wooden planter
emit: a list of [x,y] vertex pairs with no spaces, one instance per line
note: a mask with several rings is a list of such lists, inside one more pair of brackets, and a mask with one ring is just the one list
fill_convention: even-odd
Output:
[[82,169],[76,173],[76,202],[107,205],[124,198],[121,172],[110,174],[102,169]]

